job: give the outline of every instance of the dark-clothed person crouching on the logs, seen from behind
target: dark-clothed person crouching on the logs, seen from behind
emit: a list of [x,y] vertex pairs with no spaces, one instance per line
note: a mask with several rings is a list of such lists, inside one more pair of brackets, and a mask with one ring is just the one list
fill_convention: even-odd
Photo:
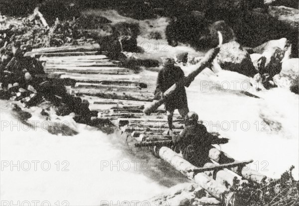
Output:
[[176,149],[182,153],[185,160],[196,167],[203,167],[210,162],[209,151],[212,144],[225,144],[227,138],[218,138],[207,132],[204,125],[198,124],[198,115],[189,112],[185,118],[185,128],[179,135],[172,136]]

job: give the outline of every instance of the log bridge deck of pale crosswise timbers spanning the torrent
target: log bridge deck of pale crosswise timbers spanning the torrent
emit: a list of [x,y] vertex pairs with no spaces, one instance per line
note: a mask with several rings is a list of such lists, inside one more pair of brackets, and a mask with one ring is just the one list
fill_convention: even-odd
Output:
[[[88,100],[90,109],[99,112],[98,118],[109,119],[118,127],[120,134],[127,134],[126,141],[130,140],[133,148],[134,143],[136,147],[147,146],[154,155],[170,163],[212,196],[220,199],[221,194],[227,191],[223,181],[233,184],[238,180],[241,184],[246,180],[266,180],[266,176],[257,171],[244,169],[252,161],[237,162],[214,147],[209,154],[212,165],[197,168],[183,160],[179,154],[169,149],[170,137],[163,135],[168,130],[163,107],[149,116],[144,114],[145,107],[153,100],[155,89],[148,88],[149,85],[144,83],[147,75],[121,68],[118,61],[110,60],[97,52],[97,49],[97,45],[77,48],[68,46],[68,50],[40,49],[25,55],[33,55],[44,61],[44,70],[49,78],[72,82],[66,85],[67,90]],[[72,81],[67,81],[69,79]],[[177,133],[183,129],[183,122],[178,114],[173,117],[173,126]]]

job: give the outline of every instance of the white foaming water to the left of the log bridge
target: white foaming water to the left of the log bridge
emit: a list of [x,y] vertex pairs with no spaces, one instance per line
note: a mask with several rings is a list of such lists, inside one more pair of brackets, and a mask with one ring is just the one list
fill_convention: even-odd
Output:
[[[6,108],[7,102],[0,103],[1,161],[9,163],[0,177],[3,201],[49,201],[53,205],[67,201],[90,206],[103,201],[141,202],[187,181],[149,152],[132,154],[115,135],[79,124],[76,136],[51,135],[40,122],[35,128],[19,123]],[[33,117],[28,122],[38,121]],[[11,168],[17,161],[20,167]],[[39,161],[36,171],[34,161]]]

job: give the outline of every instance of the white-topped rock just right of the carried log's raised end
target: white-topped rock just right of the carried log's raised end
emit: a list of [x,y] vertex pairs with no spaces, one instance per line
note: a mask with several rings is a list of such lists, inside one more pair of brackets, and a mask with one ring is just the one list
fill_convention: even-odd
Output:
[[235,71],[250,77],[258,73],[251,61],[249,53],[235,41],[222,45],[217,55],[217,61],[224,70]]

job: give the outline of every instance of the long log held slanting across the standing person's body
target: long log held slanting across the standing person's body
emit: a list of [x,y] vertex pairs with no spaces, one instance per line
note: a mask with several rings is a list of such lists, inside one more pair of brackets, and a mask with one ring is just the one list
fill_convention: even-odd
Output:
[[[175,84],[173,84],[169,89],[167,89],[164,92],[164,97],[167,97],[168,95],[171,95],[177,88],[178,85],[182,86],[182,85],[189,85],[194,78],[207,66],[210,65],[210,63],[213,61],[213,59],[217,56],[217,54],[219,53],[220,48],[213,48],[210,49],[206,55],[204,56],[204,58],[199,62],[199,67],[192,71],[187,77],[180,79],[178,82],[176,82]],[[144,110],[146,115],[149,115],[150,113],[154,112],[159,106],[161,106],[163,104],[163,100],[159,100],[154,102],[152,105],[150,105],[150,107],[146,108]]]

